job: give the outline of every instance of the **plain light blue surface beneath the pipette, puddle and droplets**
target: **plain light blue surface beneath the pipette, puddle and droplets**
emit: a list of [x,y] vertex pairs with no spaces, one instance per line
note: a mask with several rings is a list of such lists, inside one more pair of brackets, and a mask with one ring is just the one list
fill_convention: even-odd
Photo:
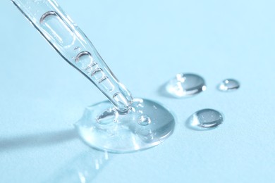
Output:
[[[0,182],[274,182],[274,1],[59,1],[133,93],[164,103],[176,130],[138,153],[104,154],[73,132],[105,100],[10,1],[0,2]],[[189,99],[161,96],[177,72],[204,77]],[[240,81],[236,92],[216,85]],[[197,110],[224,124],[185,127]],[[71,178],[70,178],[71,176]]]

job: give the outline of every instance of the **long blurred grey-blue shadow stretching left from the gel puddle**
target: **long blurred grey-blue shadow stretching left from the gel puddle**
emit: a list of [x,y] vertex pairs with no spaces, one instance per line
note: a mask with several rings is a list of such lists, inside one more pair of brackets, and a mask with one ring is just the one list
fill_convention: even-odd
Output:
[[78,138],[76,130],[61,130],[57,132],[46,132],[37,134],[25,134],[18,137],[0,138],[1,151],[11,151],[14,149],[34,148],[60,144]]

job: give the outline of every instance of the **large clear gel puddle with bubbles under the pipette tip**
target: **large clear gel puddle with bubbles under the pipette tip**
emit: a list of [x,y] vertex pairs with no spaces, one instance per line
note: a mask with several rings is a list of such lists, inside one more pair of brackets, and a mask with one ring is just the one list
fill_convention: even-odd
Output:
[[132,109],[123,115],[104,101],[86,108],[75,127],[95,149],[128,153],[161,144],[173,133],[175,119],[166,108],[147,99],[134,99]]

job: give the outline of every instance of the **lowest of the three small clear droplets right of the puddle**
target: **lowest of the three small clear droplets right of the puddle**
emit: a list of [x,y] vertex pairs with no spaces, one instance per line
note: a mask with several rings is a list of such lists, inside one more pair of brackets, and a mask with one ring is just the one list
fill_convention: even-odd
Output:
[[188,118],[188,127],[193,130],[212,130],[224,121],[223,115],[214,109],[206,108]]

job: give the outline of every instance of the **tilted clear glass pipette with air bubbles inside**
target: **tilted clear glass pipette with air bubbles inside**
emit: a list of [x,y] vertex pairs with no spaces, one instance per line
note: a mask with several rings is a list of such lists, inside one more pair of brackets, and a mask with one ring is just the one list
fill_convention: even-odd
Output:
[[92,42],[53,0],[12,0],[32,25],[74,68],[82,72],[120,112],[133,98],[104,63]]

